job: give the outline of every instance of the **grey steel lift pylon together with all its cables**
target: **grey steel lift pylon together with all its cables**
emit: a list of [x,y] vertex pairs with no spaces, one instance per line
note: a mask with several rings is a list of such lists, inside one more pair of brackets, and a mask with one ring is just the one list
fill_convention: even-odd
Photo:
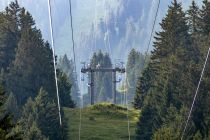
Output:
[[[73,30],[73,19],[72,19],[72,9],[71,9],[71,0],[69,0],[69,7],[70,7],[70,20],[71,20],[71,33],[72,33],[72,44],[73,44],[73,56],[74,56],[74,72],[77,71],[76,69],[76,55],[75,55],[75,41],[74,41],[74,30]],[[150,34],[150,38],[149,38],[149,42],[148,42],[148,46],[147,46],[147,51],[146,51],[146,55],[145,55],[145,59],[144,59],[144,63],[143,65],[145,65],[145,62],[146,62],[146,59],[147,59],[147,54],[148,54],[148,51],[149,51],[149,47],[150,47],[150,44],[151,44],[151,41],[152,41],[152,36],[153,36],[153,32],[154,32],[154,27],[155,27],[155,24],[156,24],[156,19],[157,19],[157,15],[158,15],[158,11],[159,11],[159,7],[160,7],[160,0],[158,1],[158,6],[157,6],[157,10],[156,10],[156,14],[155,14],[155,20],[154,20],[154,23],[153,23],[153,26],[152,26],[152,31],[151,31],[151,34]],[[53,51],[53,60],[54,60],[54,71],[55,71],[55,82],[56,82],[56,93],[57,93],[57,102],[58,102],[58,110],[59,110],[59,120],[60,120],[60,126],[62,128],[62,117],[61,117],[61,113],[60,113],[60,99],[59,99],[59,91],[58,91],[58,83],[57,83],[57,72],[56,72],[56,63],[55,63],[55,49],[54,49],[54,36],[53,36],[53,27],[52,27],[52,16],[51,16],[51,4],[50,4],[50,0],[48,0],[48,8],[49,8],[49,20],[50,20],[50,31],[51,31],[51,45],[52,45],[52,51]],[[95,12],[96,12],[96,8],[95,8]],[[96,14],[95,14],[96,15]],[[105,15],[106,15],[106,12],[105,12]],[[105,19],[106,20],[106,19]],[[105,25],[107,23],[105,22]],[[107,25],[106,25],[106,29],[107,29]],[[108,32],[108,29],[107,29],[107,32]],[[109,45],[109,50],[110,51],[110,41],[109,41],[109,33],[107,34],[108,35],[108,45]],[[106,46],[106,44],[105,44]],[[202,78],[203,78],[203,75],[204,75],[204,72],[205,72],[205,67],[207,65],[207,61],[208,61],[208,58],[209,58],[209,54],[210,54],[210,48],[208,49],[207,51],[207,56],[206,56],[206,59],[205,59],[205,62],[204,62],[204,66],[203,66],[203,69],[202,69],[202,72],[201,72],[201,75],[200,75],[200,80],[198,82],[198,85],[197,85],[197,89],[196,89],[196,92],[195,92],[195,95],[194,95],[194,98],[193,98],[193,101],[192,101],[192,105],[191,105],[191,108],[190,108],[190,111],[189,111],[189,114],[188,114],[188,117],[187,117],[187,120],[185,122],[185,125],[184,125],[184,129],[183,129],[183,132],[182,132],[182,135],[181,135],[181,140],[184,138],[185,136],[185,132],[186,132],[186,129],[187,129],[187,126],[188,126],[188,123],[189,123],[189,120],[190,120],[190,117],[191,117],[191,114],[192,114],[192,111],[193,111],[193,108],[194,108],[194,105],[195,105],[195,101],[196,101],[196,98],[197,98],[197,94],[198,94],[198,91],[199,91],[199,88],[200,88],[200,84],[201,84],[201,81],[202,81]],[[91,99],[90,99],[90,103],[91,105],[94,104],[94,73],[95,72],[112,72],[112,82],[113,82],[113,103],[116,104],[116,83],[118,82],[116,80],[116,73],[119,72],[121,74],[125,74],[125,84],[127,84],[127,74],[126,74],[126,68],[124,68],[123,66],[121,67],[115,67],[115,68],[110,68],[110,69],[106,69],[106,68],[92,68],[90,66],[86,66],[84,65],[83,68],[81,69],[81,73],[89,73],[90,77],[89,77],[89,90],[90,90],[90,96],[91,96]],[[81,79],[80,79],[81,80]],[[83,80],[81,80],[83,81]],[[76,82],[77,82],[77,77],[76,77]],[[82,94],[80,94],[81,96],[81,104],[83,104],[83,99],[82,99]],[[127,98],[127,93],[125,91],[125,96]],[[130,140],[130,122],[129,122],[129,118],[128,118],[128,101],[126,99],[126,106],[127,106],[127,120],[128,120],[128,139]],[[82,105],[80,106],[80,122],[79,122],[79,140],[80,140],[80,137],[81,137],[81,118],[82,118]]]

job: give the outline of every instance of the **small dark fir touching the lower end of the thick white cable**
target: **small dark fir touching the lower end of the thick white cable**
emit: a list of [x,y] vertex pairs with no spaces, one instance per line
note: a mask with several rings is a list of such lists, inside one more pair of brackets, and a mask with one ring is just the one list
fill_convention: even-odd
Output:
[[49,94],[41,88],[35,98],[35,112],[37,113],[37,125],[41,132],[49,139],[61,138],[58,107],[50,101]]

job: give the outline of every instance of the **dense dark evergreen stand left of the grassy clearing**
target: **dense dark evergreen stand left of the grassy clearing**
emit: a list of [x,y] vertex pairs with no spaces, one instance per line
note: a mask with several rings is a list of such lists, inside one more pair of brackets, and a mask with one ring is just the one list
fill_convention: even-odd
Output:
[[[59,124],[52,55],[32,16],[17,1],[0,12],[1,140],[58,140],[67,134]],[[72,108],[69,75],[57,71],[61,106]]]

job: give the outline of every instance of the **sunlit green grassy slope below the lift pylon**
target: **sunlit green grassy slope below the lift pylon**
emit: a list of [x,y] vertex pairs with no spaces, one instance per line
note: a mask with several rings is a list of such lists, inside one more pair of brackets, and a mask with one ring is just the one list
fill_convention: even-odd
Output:
[[[79,109],[65,108],[69,139],[78,139]],[[139,111],[129,110],[131,139],[135,136]],[[97,104],[82,110],[81,140],[127,140],[127,110],[112,104]]]

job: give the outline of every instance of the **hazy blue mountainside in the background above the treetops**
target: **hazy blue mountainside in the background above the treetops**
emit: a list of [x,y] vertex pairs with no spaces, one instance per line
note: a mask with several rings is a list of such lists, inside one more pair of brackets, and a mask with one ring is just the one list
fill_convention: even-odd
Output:
[[[3,0],[0,3],[0,10],[4,9],[10,1]],[[179,1],[183,2],[183,7],[188,6],[191,2],[191,0]],[[201,1],[198,2],[201,3]],[[68,2],[68,0],[51,0],[56,54],[60,56],[66,53],[71,58],[72,42]],[[104,40],[107,39],[108,34],[109,52],[112,52],[113,59],[125,60],[130,48],[145,51],[157,2],[157,0],[72,0],[78,65],[80,61],[89,59],[90,51],[99,49],[108,51],[108,47],[105,46],[108,46],[109,43]],[[170,2],[171,0],[161,1],[155,30],[158,30],[158,23],[165,16]],[[38,0],[36,3],[21,0],[19,3],[34,16],[43,37],[50,40],[47,0]],[[103,29],[105,19],[107,30]],[[104,27],[100,27],[100,24]],[[97,37],[96,45],[93,45],[95,42],[93,36]]]

